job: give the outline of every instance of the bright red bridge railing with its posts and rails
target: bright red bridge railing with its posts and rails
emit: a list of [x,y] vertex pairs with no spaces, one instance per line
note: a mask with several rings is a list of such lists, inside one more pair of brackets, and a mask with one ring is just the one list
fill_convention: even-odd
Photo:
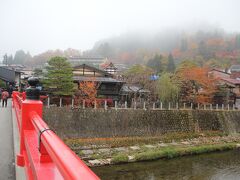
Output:
[[28,179],[99,179],[43,121],[40,100],[13,92],[13,108],[20,133],[17,165]]

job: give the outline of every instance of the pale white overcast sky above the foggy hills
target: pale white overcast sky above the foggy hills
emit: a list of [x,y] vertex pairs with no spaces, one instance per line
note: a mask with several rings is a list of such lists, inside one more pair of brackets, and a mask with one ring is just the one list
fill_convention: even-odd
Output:
[[32,55],[86,50],[128,31],[191,22],[240,32],[239,7],[239,0],[0,0],[0,56],[19,49]]

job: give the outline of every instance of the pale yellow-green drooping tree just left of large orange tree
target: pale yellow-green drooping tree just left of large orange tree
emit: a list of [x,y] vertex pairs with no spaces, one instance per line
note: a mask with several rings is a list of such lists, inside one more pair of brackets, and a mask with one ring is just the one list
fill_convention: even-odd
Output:
[[157,93],[159,99],[167,104],[178,102],[180,88],[172,74],[163,73],[157,82]]

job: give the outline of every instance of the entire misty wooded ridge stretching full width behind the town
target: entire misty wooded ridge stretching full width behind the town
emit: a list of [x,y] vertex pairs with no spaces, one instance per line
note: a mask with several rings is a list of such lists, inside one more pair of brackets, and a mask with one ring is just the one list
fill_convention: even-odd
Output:
[[[167,29],[159,32],[128,32],[97,41],[90,50],[48,50],[31,56],[18,50],[3,63],[42,66],[51,57],[102,56],[109,61],[125,64],[147,64],[156,55],[166,59],[172,54],[176,64],[192,60],[200,66],[228,68],[240,64],[240,33],[229,33],[216,27]],[[165,60],[166,61],[166,60]]]

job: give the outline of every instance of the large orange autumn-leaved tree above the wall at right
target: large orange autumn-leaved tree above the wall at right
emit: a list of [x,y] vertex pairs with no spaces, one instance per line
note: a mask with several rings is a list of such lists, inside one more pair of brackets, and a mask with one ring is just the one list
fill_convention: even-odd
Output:
[[208,76],[208,68],[183,67],[177,72],[181,86],[181,99],[194,104],[211,103],[217,90],[216,79]]

